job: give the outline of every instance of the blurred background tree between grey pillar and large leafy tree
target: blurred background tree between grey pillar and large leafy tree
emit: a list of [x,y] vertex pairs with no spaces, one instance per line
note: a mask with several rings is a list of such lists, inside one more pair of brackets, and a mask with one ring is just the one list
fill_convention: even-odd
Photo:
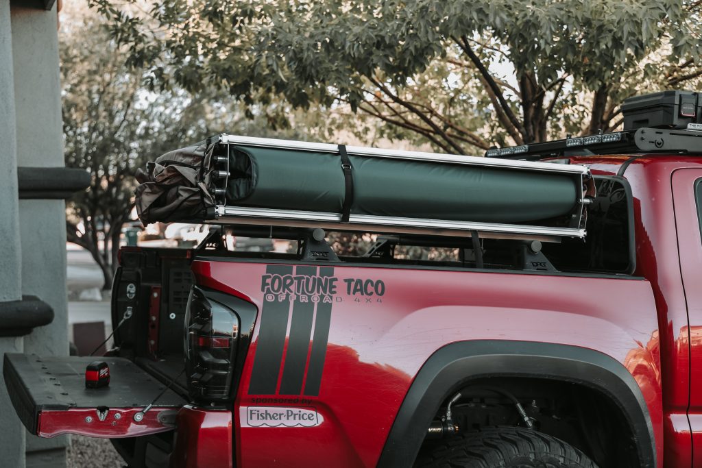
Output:
[[128,57],[99,15],[79,10],[62,17],[65,162],[91,173],[90,187],[67,203],[67,239],[91,253],[105,289],[134,206],[134,174],[146,161],[222,131],[307,138],[286,121],[274,121],[272,116],[289,112],[278,102],[251,106],[244,114],[212,88],[190,94],[174,86],[152,93],[143,70],[125,65]]

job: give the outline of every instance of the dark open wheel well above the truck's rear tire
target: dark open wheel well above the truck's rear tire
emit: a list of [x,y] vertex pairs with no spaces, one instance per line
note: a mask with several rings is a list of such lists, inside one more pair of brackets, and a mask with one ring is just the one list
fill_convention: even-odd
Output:
[[[489,377],[471,380],[444,400],[435,415],[441,421],[451,404],[458,432],[489,426],[522,426],[512,396],[521,403],[534,430],[555,436],[579,448],[600,467],[638,467],[636,439],[625,415],[614,401],[585,385],[545,378]],[[432,446],[429,436],[422,450]],[[444,437],[451,437],[445,434]],[[421,453],[421,450],[420,450]]]

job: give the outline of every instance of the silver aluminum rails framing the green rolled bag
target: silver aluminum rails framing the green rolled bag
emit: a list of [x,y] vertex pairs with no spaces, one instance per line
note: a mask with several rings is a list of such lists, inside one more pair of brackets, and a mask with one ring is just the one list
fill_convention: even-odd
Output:
[[[216,141],[216,140],[215,140]],[[212,140],[210,140],[212,142]],[[218,135],[220,145],[246,145],[277,149],[294,149],[298,151],[326,152],[338,154],[338,145],[328,143],[277,140],[272,138],[253,138],[238,135]],[[557,163],[531,161],[512,161],[508,159],[488,159],[479,156],[458,156],[428,152],[397,151],[369,147],[346,147],[347,154],[372,156],[377,158],[405,159],[411,161],[430,161],[472,166],[518,169],[540,173],[559,173],[580,178],[583,184],[590,178],[590,171],[585,166],[569,166]],[[226,181],[224,181],[226,183]],[[583,197],[581,197],[583,198]],[[303,210],[282,210],[272,208],[249,208],[219,204],[216,206],[216,219],[208,220],[213,224],[265,225],[281,227],[324,227],[340,231],[366,231],[378,233],[420,234],[432,236],[466,236],[477,232],[480,236],[496,239],[538,239],[541,241],[558,241],[563,237],[584,238],[583,213],[586,200],[579,199],[572,213],[569,227],[551,227],[521,224],[498,224],[490,222],[463,222],[452,220],[434,220],[420,218],[395,218],[376,215],[351,214],[349,222],[341,221],[340,213],[322,213]]]

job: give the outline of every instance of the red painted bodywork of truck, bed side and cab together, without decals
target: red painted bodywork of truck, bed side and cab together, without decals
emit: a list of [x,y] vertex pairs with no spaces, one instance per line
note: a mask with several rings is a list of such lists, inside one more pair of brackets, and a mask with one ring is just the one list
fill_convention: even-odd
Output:
[[[702,463],[693,459],[702,453],[702,392],[696,391],[702,373],[695,372],[702,365],[702,334],[694,331],[702,326],[695,187],[702,179],[702,159],[588,156],[571,158],[571,163],[629,181],[638,278],[334,267],[340,286],[345,279],[382,278],[385,294],[376,302],[376,296],[339,288],[329,321],[324,381],[316,396],[282,394],[280,382],[273,396],[248,392],[267,312],[261,278],[270,264],[211,258],[193,262],[197,283],[243,297],[260,310],[233,413],[236,466],[272,460],[286,466],[374,466],[420,368],[440,348],[474,340],[554,343],[611,356],[633,375],[646,402],[656,466]],[[287,341],[279,380],[286,352]],[[241,427],[242,408],[266,398],[276,400],[275,405],[312,406],[327,424]]]

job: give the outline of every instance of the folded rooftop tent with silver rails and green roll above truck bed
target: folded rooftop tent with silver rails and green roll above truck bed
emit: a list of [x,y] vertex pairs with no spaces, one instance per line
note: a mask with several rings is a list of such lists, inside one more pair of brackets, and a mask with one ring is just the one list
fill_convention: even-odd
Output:
[[552,229],[552,235],[582,237],[589,171],[221,134],[160,156],[138,178],[145,223],[256,220],[336,229],[382,225],[382,232],[400,225],[404,232],[528,232],[515,226],[542,225],[571,229]]

